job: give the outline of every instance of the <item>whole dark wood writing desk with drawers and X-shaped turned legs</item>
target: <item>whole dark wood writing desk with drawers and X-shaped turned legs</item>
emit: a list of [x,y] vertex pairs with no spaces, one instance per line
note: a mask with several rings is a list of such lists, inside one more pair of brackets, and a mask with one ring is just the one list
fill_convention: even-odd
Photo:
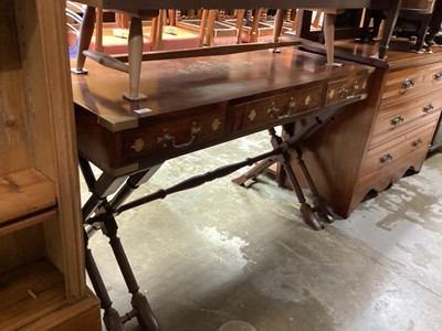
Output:
[[[306,135],[320,129],[323,122],[367,97],[371,67],[351,62],[332,67],[325,66],[325,56],[293,46],[282,47],[281,53],[260,50],[145,62],[140,89],[149,98],[140,102],[120,98],[124,73],[92,63],[88,75],[72,75],[81,169],[92,191],[83,206],[85,233],[91,226],[99,227],[109,237],[133,295],[133,309],[120,318],[112,308],[92,253],[86,249],[86,268],[102,300],[107,329],[122,330],[123,323],[133,317],[148,330],[159,329],[146,298],[138,291],[117,237],[115,216],[120,212],[256,161],[276,158],[286,166],[305,222],[320,228],[317,217],[332,221],[319,196],[313,207],[306,203],[288,163],[288,153],[299,148],[297,142]],[[295,130],[293,122],[301,119],[306,125]],[[288,140],[275,135],[273,127],[280,125],[288,134]],[[267,153],[192,177],[125,204],[129,194],[146,183],[162,162],[265,129],[273,146]],[[103,171],[97,179],[90,162]],[[308,177],[307,171],[305,175]],[[314,191],[314,186],[311,189]],[[87,243],[88,235],[85,238]]]

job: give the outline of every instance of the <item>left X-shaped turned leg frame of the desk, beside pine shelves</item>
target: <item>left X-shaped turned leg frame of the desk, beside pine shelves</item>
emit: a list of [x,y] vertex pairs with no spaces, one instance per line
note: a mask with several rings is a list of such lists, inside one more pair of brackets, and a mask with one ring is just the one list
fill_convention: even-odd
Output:
[[[117,209],[140,184],[147,182],[160,167],[152,167],[148,170],[123,178],[113,178],[112,175],[103,173],[98,178],[98,180],[95,180],[94,173],[87,160],[80,157],[80,166],[87,186],[92,192],[92,196],[83,206],[83,217],[85,225],[88,224],[87,220],[92,214],[97,215],[101,213],[105,213],[108,209]],[[110,201],[107,201],[107,196],[115,192],[116,194],[114,195],[114,197]],[[94,224],[92,224],[92,226],[94,226]],[[115,217],[107,217],[99,224],[99,227],[103,233],[109,238],[110,247],[118,263],[128,291],[131,293],[130,303],[133,307],[133,309],[123,317],[120,317],[118,312],[112,307],[112,301],[106,291],[103,278],[95,264],[92,252],[88,248],[88,234],[85,231],[86,269],[93,284],[94,290],[102,301],[102,308],[104,309],[103,320],[106,328],[108,330],[124,330],[123,324],[131,318],[136,317],[138,319],[138,322],[146,330],[159,330],[158,322],[154,317],[154,313],[149,307],[146,297],[139,292],[139,286],[127,259],[120,238],[117,236],[118,226]]]

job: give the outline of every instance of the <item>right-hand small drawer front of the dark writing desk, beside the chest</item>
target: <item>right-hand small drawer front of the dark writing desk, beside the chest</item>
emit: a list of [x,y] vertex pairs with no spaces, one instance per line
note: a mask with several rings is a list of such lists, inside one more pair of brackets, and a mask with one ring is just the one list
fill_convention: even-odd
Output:
[[368,77],[355,76],[340,81],[329,82],[325,95],[324,106],[330,106],[367,94]]

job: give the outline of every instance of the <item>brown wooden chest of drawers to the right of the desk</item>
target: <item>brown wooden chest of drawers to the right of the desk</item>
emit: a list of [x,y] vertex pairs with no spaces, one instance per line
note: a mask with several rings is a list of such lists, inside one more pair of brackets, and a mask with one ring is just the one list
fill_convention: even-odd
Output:
[[[339,46],[367,57],[376,52],[355,43]],[[390,50],[387,62],[387,68],[373,73],[369,98],[349,106],[350,111],[304,146],[319,193],[343,217],[370,191],[386,190],[410,169],[419,171],[439,121],[441,50],[433,54]]]

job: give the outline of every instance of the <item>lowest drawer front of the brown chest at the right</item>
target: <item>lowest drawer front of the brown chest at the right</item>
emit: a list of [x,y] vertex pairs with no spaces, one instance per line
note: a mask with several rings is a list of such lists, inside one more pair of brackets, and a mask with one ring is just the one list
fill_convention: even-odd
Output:
[[369,150],[361,166],[360,175],[368,175],[386,167],[394,168],[397,162],[410,153],[427,152],[434,127],[435,120]]

